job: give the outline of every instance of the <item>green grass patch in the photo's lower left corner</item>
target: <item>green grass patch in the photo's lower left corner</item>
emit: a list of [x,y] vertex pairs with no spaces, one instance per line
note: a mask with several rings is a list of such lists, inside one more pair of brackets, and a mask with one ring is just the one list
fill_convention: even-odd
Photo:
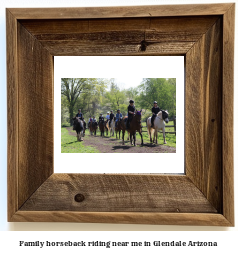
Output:
[[76,137],[69,135],[68,130],[61,128],[61,153],[99,153],[92,146],[84,146],[83,142],[78,142]]

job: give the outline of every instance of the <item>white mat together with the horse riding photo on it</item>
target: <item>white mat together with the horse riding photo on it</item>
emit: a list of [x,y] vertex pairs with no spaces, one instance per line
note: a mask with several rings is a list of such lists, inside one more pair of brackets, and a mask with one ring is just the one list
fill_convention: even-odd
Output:
[[54,172],[184,174],[184,70],[183,56],[54,57]]

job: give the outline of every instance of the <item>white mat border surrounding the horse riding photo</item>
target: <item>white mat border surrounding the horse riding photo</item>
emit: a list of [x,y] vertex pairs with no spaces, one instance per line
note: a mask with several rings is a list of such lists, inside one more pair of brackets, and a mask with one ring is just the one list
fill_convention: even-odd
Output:
[[[142,78],[176,78],[176,153],[61,153],[61,78],[138,75]],[[157,100],[159,106],[160,98]],[[54,172],[184,173],[184,57],[55,56]]]

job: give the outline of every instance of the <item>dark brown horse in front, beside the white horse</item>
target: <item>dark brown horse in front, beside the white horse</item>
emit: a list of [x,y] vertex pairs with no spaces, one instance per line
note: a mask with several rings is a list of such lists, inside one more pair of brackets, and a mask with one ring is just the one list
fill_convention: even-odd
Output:
[[[142,110],[135,112],[135,115],[133,116],[130,122],[130,127],[127,130],[128,132],[130,132],[131,145],[133,145],[132,138],[134,139],[134,146],[136,146],[136,131],[140,133],[141,145],[143,145],[143,137],[142,137],[142,129],[141,129],[141,112]],[[122,140],[124,144],[124,133],[122,135]]]

